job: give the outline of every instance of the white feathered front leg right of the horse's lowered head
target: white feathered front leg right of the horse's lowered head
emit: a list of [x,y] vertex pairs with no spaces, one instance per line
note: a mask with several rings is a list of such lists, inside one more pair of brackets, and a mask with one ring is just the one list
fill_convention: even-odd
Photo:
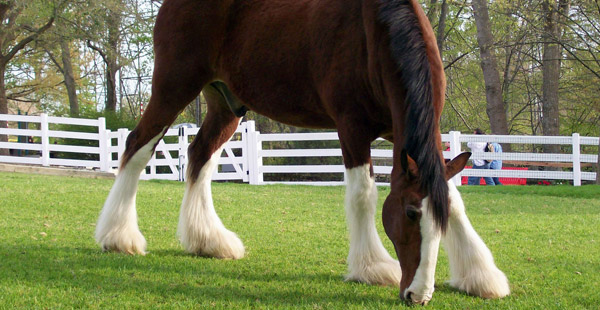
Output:
[[450,219],[442,238],[448,253],[450,286],[484,298],[500,298],[510,294],[506,276],[494,264],[492,253],[477,235],[465,213],[460,193],[448,182]]

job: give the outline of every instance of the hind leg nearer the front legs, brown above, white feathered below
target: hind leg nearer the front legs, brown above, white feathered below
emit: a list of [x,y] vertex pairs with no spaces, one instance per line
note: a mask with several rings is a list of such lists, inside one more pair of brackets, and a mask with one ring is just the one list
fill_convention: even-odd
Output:
[[189,147],[187,185],[177,233],[185,250],[201,256],[239,259],[244,245],[227,230],[213,206],[211,178],[221,156],[222,145],[235,133],[239,118],[212,87],[203,90],[208,103],[206,119]]

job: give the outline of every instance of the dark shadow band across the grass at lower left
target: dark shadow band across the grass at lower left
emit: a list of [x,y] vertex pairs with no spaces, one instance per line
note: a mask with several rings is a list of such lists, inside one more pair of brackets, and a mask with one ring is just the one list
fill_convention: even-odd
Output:
[[253,262],[207,259],[176,250],[156,250],[142,257],[68,246],[0,245],[0,259],[0,283],[8,288],[27,283],[43,291],[76,287],[84,295],[106,298],[149,294],[192,303],[260,301],[268,307],[401,304],[397,294],[382,298],[367,285],[342,282],[336,273],[253,268]]

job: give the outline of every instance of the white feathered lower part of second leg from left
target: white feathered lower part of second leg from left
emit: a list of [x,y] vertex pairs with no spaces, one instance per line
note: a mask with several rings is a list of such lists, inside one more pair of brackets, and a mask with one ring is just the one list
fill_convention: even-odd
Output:
[[197,180],[188,177],[177,234],[189,253],[239,259],[244,257],[244,244],[235,233],[225,228],[212,200],[210,183],[220,155],[221,149],[200,169]]

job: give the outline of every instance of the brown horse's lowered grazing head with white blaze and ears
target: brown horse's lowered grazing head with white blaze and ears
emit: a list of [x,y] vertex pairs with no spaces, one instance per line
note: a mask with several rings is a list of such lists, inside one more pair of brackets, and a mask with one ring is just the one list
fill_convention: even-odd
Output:
[[[463,170],[470,156],[465,152],[446,163],[446,181]],[[430,208],[424,207],[429,201],[421,187],[419,167],[405,151],[400,156],[400,168],[392,173],[391,192],[383,205],[383,226],[402,268],[400,297],[424,304],[433,293],[442,231],[435,225]]]

